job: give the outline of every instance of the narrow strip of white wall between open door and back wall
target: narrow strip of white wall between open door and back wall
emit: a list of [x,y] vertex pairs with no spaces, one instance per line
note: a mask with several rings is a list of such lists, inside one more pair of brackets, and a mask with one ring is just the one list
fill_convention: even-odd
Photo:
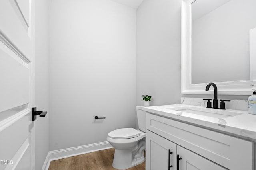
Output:
[[[49,112],[48,0],[35,2],[35,106]],[[36,170],[42,169],[49,151],[49,117],[35,121]]]

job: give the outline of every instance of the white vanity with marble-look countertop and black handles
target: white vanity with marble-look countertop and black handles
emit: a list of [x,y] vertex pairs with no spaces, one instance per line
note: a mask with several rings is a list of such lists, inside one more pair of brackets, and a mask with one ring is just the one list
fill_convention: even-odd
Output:
[[255,170],[256,115],[187,104],[143,110],[146,170]]

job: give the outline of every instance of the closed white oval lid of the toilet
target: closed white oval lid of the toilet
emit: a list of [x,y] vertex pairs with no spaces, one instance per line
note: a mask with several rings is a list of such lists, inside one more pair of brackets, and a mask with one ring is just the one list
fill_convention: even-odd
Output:
[[108,133],[108,137],[114,139],[128,139],[140,136],[140,132],[133,128],[116,129]]

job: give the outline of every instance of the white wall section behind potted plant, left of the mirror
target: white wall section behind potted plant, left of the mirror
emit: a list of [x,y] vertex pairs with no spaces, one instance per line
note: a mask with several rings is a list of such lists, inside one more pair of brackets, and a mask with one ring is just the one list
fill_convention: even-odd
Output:
[[137,9],[137,105],[180,103],[181,0],[144,0]]

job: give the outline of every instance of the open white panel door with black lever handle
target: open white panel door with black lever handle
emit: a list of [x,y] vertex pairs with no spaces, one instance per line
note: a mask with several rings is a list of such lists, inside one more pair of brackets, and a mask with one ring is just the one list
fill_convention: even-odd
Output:
[[34,1],[0,0],[0,170],[34,170]]

